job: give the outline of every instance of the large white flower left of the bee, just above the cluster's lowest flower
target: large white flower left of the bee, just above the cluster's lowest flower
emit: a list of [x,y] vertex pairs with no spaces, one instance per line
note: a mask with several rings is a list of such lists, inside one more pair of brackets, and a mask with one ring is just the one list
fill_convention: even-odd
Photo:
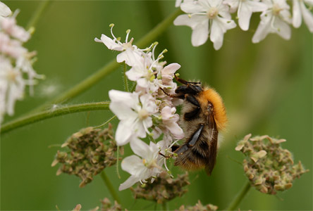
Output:
[[137,92],[110,90],[110,110],[121,120],[116,130],[116,143],[125,145],[137,137],[145,138],[152,127],[151,115],[156,113],[155,99],[145,94],[139,96]]

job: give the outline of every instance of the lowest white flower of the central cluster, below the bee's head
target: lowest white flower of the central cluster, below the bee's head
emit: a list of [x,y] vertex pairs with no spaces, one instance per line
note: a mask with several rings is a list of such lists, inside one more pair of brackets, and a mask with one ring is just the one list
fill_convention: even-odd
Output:
[[136,155],[124,158],[121,167],[122,170],[130,173],[131,176],[119,186],[119,191],[133,186],[138,181],[141,184],[146,183],[147,179],[156,177],[161,172],[161,166],[163,165],[163,160],[159,155],[160,149],[156,143],[150,142],[150,145],[147,145],[147,143],[137,139],[130,142],[130,147]]

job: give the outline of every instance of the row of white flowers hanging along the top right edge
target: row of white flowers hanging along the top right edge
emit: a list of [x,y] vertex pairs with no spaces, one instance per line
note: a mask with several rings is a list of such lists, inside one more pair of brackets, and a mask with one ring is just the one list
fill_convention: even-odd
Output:
[[[313,0],[293,0],[293,17],[286,0],[176,0],[185,15],[179,15],[174,25],[188,25],[192,28],[192,46],[204,44],[208,37],[214,49],[223,45],[223,35],[236,27],[231,13],[237,12],[238,24],[247,31],[252,13],[261,12],[261,21],[252,37],[253,43],[262,41],[267,34],[276,33],[283,39],[290,39],[293,27],[300,27],[302,17],[310,32],[313,32],[313,15],[310,11]],[[309,8],[307,8],[309,6]]]

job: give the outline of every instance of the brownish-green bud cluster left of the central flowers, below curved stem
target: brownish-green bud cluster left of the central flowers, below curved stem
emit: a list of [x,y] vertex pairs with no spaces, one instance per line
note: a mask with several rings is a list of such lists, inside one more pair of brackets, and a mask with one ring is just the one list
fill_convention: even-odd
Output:
[[117,146],[111,124],[103,130],[93,127],[81,129],[63,143],[64,147],[69,151],[58,151],[51,166],[61,163],[56,175],[75,174],[82,179],[80,187],[90,183],[105,167],[116,163],[114,153]]

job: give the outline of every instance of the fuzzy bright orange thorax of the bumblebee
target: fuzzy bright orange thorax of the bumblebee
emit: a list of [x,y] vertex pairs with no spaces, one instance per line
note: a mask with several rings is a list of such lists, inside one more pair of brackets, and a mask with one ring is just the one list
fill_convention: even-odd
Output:
[[214,89],[204,88],[197,98],[201,106],[213,105],[214,119],[219,130],[225,129],[227,124],[226,109],[221,96]]

